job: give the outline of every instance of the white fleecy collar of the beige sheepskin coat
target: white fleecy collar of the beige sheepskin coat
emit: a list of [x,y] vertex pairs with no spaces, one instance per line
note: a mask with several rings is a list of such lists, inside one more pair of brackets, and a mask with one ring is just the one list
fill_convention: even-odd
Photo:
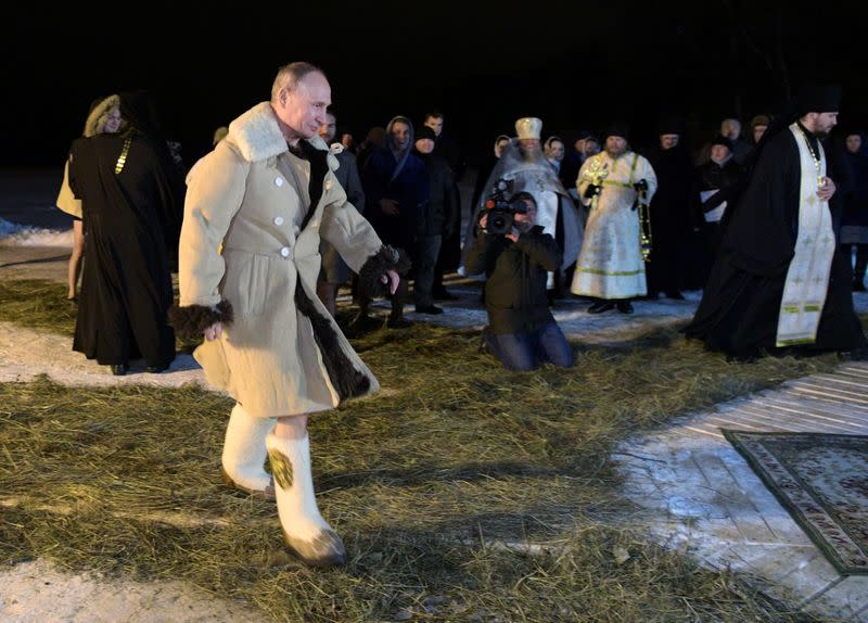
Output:
[[[247,162],[267,160],[290,150],[283,132],[280,131],[271,102],[256,104],[229,124],[226,140],[233,144]],[[317,135],[305,140],[316,149],[327,152],[329,168],[337,170],[340,166],[337,158],[329,152],[326,141]]]

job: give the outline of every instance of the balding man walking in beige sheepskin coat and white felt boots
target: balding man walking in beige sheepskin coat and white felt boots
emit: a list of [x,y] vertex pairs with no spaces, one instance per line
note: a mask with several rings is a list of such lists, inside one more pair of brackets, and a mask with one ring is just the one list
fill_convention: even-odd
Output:
[[204,332],[196,360],[208,382],[237,400],[225,479],[277,497],[286,544],[315,565],[346,557],[317,507],[308,414],[379,387],[317,297],[320,237],[369,289],[385,284],[394,293],[405,263],[336,181],[337,161],[317,135],[330,103],[320,69],[281,67],[271,101],[233,120],[192,168],[173,312],[179,331]]

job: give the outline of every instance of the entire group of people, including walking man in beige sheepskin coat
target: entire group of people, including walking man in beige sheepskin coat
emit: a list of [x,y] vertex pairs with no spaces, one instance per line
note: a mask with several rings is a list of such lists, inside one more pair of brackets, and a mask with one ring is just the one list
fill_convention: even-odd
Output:
[[[725,119],[695,156],[678,119],[639,153],[622,123],[567,148],[522,117],[514,137],[495,139],[463,207],[465,161],[442,113],[418,128],[395,116],[357,145],[308,63],[281,67],[270,100],[219,128],[189,171],[145,93],[101,98],[58,201],[85,232],[69,268],[73,298],[84,249],[74,348],[115,374],[137,357],[158,373],[176,331],[203,338],[196,360],[235,400],[226,482],[277,501],[304,561],[341,564],[343,542],[316,504],[307,420],[376,391],[344,331],[374,325],[380,295],[388,330],[408,326],[411,280],[414,310],[438,315],[435,302],[455,297],[445,274],[484,275],[484,345],[513,370],[574,365],[551,313],[559,298],[630,314],[636,298],[699,288],[685,332],[714,349],[864,358],[851,291],[868,266],[868,164],[861,132],[840,147],[828,138],[839,96],[805,89],[792,110],[755,117],[751,141]],[[348,282],[358,314],[342,327]]]

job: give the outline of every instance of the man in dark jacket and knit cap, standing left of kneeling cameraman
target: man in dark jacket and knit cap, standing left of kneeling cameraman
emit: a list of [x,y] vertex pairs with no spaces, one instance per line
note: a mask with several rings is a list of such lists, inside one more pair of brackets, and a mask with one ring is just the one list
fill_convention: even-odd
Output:
[[416,228],[413,301],[417,314],[443,314],[443,309],[434,305],[435,267],[443,241],[458,230],[460,215],[452,169],[445,158],[433,153],[435,138],[434,130],[422,126],[413,152],[425,165],[429,189]]

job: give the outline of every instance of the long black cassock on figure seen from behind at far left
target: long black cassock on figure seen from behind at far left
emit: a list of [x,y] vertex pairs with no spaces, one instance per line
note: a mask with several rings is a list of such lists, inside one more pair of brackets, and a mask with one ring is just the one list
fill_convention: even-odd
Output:
[[164,367],[175,358],[167,245],[177,246],[181,189],[140,135],[115,173],[125,140],[97,135],[72,147],[69,187],[87,231],[73,349],[102,365],[141,356]]

